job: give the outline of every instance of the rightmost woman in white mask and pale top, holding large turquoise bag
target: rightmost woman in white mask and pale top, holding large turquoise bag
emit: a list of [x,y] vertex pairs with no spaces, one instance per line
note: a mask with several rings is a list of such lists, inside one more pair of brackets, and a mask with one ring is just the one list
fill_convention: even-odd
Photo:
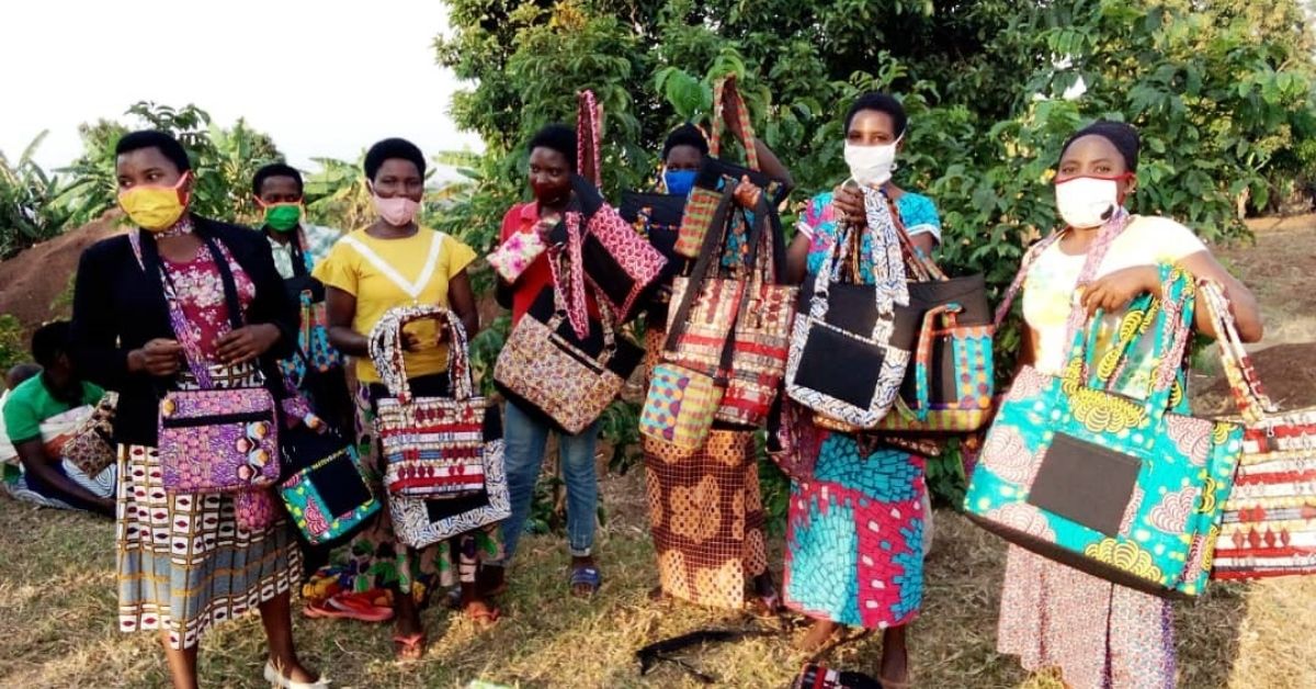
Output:
[[[1100,121],[1074,134],[1061,152],[1055,206],[1063,229],[1038,245],[1024,282],[1028,328],[1020,365],[1059,374],[1073,310],[1103,320],[1099,348],[1109,343],[1129,302],[1161,289],[1157,263],[1178,263],[1199,279],[1225,287],[1245,341],[1262,335],[1257,302],[1230,277],[1192,231],[1166,217],[1125,211],[1138,163],[1138,134],[1126,124]],[[1199,332],[1213,335],[1204,310]],[[1101,352],[1096,356],[1100,357]],[[1150,364],[1129,360],[1121,393]],[[1059,668],[1073,688],[1173,688],[1174,628],[1169,602],[1113,585],[1078,569],[1011,547],[1001,592],[998,649],[1017,655],[1028,671]]]

